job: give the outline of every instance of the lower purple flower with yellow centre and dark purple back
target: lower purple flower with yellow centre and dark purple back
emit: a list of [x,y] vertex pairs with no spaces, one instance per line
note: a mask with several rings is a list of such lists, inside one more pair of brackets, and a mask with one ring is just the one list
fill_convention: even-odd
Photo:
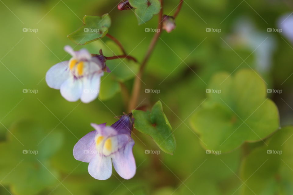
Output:
[[132,154],[134,141],[131,138],[131,115],[123,115],[111,126],[106,126],[106,123],[91,125],[96,130],[89,132],[75,144],[74,158],[89,162],[89,174],[95,179],[110,178],[112,162],[122,178],[131,179],[136,172]]

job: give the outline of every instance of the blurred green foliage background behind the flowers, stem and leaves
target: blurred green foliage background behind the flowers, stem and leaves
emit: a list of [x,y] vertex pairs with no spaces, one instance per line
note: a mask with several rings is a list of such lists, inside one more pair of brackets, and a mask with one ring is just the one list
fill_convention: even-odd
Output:
[[[165,1],[164,13],[174,12],[178,2]],[[176,29],[170,34],[163,32],[158,41],[139,98],[140,106],[148,108],[162,101],[174,130],[176,151],[173,156],[145,154],[145,150],[158,147],[135,131],[136,176],[124,180],[114,172],[110,179],[99,181],[88,174],[88,163],[73,158],[72,149],[93,130],[91,122],[110,125],[117,120],[114,116],[126,111],[117,81],[125,82],[130,90],[137,65],[120,63],[116,72],[102,81],[99,99],[89,104],[66,101],[59,90],[47,86],[45,74],[54,64],[70,59],[63,47],[75,47],[67,35],[82,25],[84,15],[110,13],[109,34],[141,61],[153,36],[144,29],[156,28],[157,16],[138,26],[132,10],[119,11],[117,4],[114,0],[1,0],[0,194],[252,193],[243,190],[245,179],[240,176],[246,154],[243,147],[218,156],[206,154],[189,118],[206,98],[207,84],[215,73],[252,68],[268,88],[283,90],[268,96],[279,108],[281,126],[292,124],[292,43],[283,34],[267,32],[267,28],[278,28],[280,16],[292,12],[291,2],[186,0],[176,18]],[[38,32],[23,32],[23,28]],[[207,32],[206,28],[221,32]],[[104,45],[111,45],[109,41],[105,37],[74,49],[85,47],[98,53],[104,48],[109,56],[113,53]],[[108,61],[108,66],[113,68],[119,62]],[[24,89],[38,93],[23,93]],[[161,92],[144,93],[145,89]],[[251,143],[245,148],[262,146]],[[23,154],[23,150],[38,150],[38,154]],[[276,176],[267,184],[274,190],[257,194],[292,194],[293,171],[288,168],[287,174],[287,183],[277,186],[283,180]],[[261,182],[265,177],[260,174],[254,179]]]

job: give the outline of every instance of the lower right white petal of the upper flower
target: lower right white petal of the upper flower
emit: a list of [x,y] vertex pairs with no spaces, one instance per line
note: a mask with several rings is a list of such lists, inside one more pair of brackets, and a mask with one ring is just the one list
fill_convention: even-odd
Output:
[[83,91],[81,94],[81,101],[83,103],[89,103],[97,98],[100,90],[101,76],[95,73],[90,76],[91,78],[84,77],[83,79]]

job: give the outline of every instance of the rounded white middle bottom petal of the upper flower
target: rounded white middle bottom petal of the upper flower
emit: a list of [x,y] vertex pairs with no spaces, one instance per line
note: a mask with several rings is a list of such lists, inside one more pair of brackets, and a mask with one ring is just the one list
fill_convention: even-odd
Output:
[[77,101],[82,94],[82,82],[80,79],[67,79],[60,87],[61,95],[67,101]]

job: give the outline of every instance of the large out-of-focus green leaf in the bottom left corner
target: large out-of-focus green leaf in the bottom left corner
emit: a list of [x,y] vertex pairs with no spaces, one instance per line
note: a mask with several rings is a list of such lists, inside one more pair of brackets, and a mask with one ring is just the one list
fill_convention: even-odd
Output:
[[[62,134],[45,132],[32,121],[10,128],[6,142],[0,144],[0,178],[13,194],[33,195],[58,183],[58,172],[49,158],[60,148]],[[32,185],[33,184],[33,185]]]

